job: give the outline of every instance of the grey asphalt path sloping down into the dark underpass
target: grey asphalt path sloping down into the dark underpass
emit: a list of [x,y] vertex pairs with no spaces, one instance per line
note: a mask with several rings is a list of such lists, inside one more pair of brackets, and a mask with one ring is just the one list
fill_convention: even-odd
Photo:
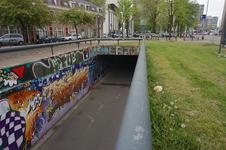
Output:
[[[104,57],[104,56],[101,56]],[[113,150],[123,118],[137,56],[121,57],[67,119],[58,122],[32,150]]]

